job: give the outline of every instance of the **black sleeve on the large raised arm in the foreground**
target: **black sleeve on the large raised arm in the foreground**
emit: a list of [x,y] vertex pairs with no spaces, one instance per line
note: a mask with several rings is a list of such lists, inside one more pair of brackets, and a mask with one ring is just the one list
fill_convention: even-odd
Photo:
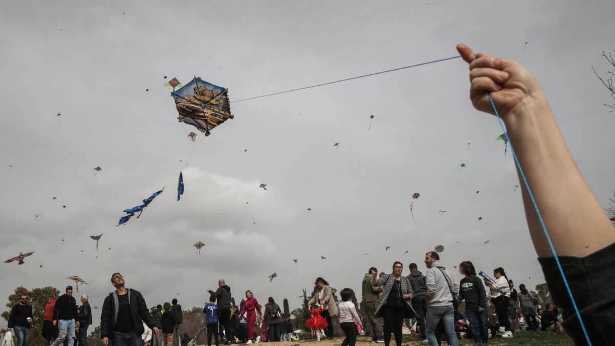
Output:
[[[538,260],[553,302],[563,310],[563,328],[576,345],[587,345],[555,259]],[[563,256],[559,260],[592,344],[611,344],[615,340],[615,244],[583,258]]]

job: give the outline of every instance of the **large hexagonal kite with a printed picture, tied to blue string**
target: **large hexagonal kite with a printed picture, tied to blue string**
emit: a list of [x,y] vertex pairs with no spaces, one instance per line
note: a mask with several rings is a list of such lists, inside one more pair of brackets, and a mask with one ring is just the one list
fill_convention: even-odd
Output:
[[190,124],[208,136],[212,129],[232,119],[228,89],[194,77],[171,93],[179,113],[178,120]]

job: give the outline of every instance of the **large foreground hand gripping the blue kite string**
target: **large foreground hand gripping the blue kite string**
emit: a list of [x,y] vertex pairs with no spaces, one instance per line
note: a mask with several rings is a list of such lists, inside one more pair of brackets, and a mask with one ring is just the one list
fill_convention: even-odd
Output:
[[462,43],[457,45],[457,50],[470,64],[470,100],[477,110],[495,114],[490,93],[504,120],[509,114],[522,113],[520,108],[546,102],[538,80],[519,63],[482,53],[474,55]]

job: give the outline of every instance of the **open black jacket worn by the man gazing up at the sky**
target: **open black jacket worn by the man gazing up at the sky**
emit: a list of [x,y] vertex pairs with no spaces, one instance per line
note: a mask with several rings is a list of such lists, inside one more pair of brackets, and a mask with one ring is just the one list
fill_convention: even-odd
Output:
[[[154,323],[153,318],[149,315],[148,306],[145,304],[145,299],[141,296],[141,292],[132,288],[127,288],[126,291],[128,294],[130,315],[132,315],[135,332],[140,336],[143,332],[145,332],[145,328],[143,328],[143,323],[141,323],[141,320],[143,320],[149,328],[156,327],[156,324]],[[105,337],[113,339],[113,331],[117,320],[118,308],[119,301],[117,299],[117,291],[113,291],[109,293],[109,296],[105,297],[105,302],[103,302],[103,308],[100,314],[101,339],[105,339]]]

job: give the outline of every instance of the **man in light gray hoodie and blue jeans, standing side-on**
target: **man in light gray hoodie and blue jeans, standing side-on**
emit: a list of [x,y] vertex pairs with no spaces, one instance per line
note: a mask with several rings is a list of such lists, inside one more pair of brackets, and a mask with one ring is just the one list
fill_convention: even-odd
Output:
[[427,252],[425,255],[427,266],[427,315],[425,316],[426,334],[429,346],[439,345],[435,337],[435,328],[442,321],[446,334],[446,341],[450,346],[459,346],[457,334],[455,334],[453,295],[457,294],[458,286],[454,284],[453,275],[446,270],[440,262],[437,252]]

